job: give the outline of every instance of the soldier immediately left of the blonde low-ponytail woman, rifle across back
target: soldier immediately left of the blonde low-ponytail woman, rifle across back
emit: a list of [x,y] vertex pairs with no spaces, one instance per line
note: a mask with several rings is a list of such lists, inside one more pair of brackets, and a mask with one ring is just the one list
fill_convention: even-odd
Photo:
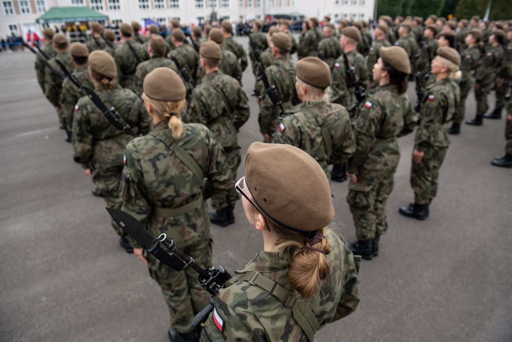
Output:
[[[135,134],[146,134],[150,120],[140,98],[117,83],[117,68],[114,58],[107,52],[96,50],[89,55],[89,77],[94,91],[109,108],[113,106],[132,126]],[[118,131],[88,96],[81,97],[75,105],[73,116],[73,159],[82,164],[86,175],[94,183],[93,193],[102,196],[106,205],[121,208],[119,183],[123,169],[123,154],[126,144],[132,139],[129,134]],[[126,233],[111,221],[114,230],[121,236],[119,243],[127,252],[133,252],[125,238]]]

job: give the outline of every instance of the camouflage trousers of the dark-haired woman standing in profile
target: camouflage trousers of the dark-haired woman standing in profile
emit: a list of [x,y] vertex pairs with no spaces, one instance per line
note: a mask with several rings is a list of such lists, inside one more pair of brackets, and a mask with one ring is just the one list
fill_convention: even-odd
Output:
[[[358,179],[357,183],[359,182],[364,180]],[[356,190],[355,187],[351,188],[351,184],[347,202],[354,220],[357,239],[369,240],[385,234],[388,230],[386,203],[395,186],[394,170],[378,180],[368,182],[364,188],[359,185]]]

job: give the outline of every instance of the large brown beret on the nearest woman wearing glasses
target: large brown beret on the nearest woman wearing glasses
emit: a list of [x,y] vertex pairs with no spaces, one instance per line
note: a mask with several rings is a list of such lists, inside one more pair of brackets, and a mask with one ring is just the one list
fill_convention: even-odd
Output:
[[245,182],[261,210],[287,228],[306,234],[334,219],[324,170],[300,148],[253,142],[245,157]]

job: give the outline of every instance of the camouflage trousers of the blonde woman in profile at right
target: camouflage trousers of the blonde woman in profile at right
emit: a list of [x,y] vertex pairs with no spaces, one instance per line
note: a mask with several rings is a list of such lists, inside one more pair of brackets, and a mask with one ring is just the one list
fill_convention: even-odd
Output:
[[439,185],[439,168],[444,161],[448,147],[431,146],[419,164],[412,161],[411,187],[414,202],[429,204],[436,196]]

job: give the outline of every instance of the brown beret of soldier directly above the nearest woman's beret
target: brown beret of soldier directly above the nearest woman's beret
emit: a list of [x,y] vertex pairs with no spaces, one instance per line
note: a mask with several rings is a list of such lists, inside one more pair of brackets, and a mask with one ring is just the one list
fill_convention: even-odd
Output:
[[322,90],[332,84],[331,69],[318,57],[304,57],[297,62],[297,77],[306,84]]

